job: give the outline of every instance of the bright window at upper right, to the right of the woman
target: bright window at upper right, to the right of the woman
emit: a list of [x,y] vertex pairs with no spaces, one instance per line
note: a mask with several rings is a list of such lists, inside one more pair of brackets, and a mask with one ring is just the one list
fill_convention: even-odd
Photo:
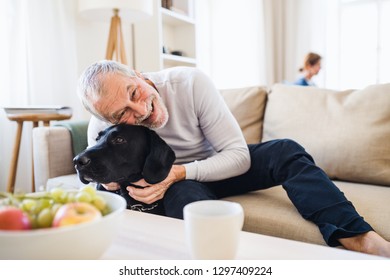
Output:
[[390,82],[390,0],[339,2],[339,88]]

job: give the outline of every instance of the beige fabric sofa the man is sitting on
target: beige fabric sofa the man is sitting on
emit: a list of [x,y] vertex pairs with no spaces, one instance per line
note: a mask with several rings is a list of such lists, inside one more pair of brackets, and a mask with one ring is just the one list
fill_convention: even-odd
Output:
[[[337,92],[276,84],[221,90],[248,143],[294,139],[375,230],[390,240],[390,84]],[[36,186],[79,186],[64,127],[33,130]],[[244,230],[325,245],[281,186],[226,198],[242,204]]]

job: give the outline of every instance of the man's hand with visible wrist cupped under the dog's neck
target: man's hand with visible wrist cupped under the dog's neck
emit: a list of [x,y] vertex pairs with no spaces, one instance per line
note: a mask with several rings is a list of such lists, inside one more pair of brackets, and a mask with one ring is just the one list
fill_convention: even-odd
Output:
[[186,177],[185,167],[182,165],[173,165],[167,178],[160,183],[150,185],[144,179],[134,182],[134,185],[144,187],[143,189],[128,186],[129,195],[140,202],[151,204],[164,197],[165,192],[175,182],[182,181]]

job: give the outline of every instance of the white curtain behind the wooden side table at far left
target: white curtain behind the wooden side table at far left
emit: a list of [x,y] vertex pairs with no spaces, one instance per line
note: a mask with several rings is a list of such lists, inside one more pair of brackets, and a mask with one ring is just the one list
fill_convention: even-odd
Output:
[[[77,58],[75,1],[0,0],[0,107],[71,106],[75,98]],[[16,191],[31,190],[31,123],[25,123]],[[0,110],[0,190],[5,190],[16,123]]]

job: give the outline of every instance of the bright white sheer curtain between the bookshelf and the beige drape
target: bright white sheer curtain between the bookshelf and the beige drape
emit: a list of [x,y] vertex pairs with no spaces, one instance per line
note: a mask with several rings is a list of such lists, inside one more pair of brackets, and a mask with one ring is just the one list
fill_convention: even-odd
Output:
[[212,77],[218,88],[265,84],[262,1],[195,3],[199,68]]

